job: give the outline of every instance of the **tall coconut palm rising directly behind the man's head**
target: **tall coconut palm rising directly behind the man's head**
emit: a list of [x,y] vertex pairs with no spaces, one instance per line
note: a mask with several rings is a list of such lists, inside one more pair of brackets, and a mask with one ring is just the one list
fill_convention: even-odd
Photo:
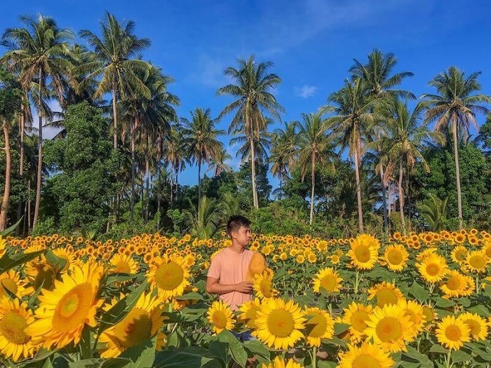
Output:
[[228,67],[224,70],[224,74],[229,76],[234,83],[217,90],[218,95],[231,95],[236,98],[223,109],[219,118],[235,111],[234,118],[229,125],[229,133],[242,132],[249,140],[253,204],[255,208],[258,208],[254,142],[259,142],[267,125],[264,113],[271,114],[280,120],[279,114],[284,111],[283,107],[276,102],[276,97],[271,94],[271,90],[281,83],[281,79],[276,74],[269,74],[269,68],[273,66],[272,62],[256,64],[254,55],[250,55],[247,60],[238,59],[237,63],[238,68]]

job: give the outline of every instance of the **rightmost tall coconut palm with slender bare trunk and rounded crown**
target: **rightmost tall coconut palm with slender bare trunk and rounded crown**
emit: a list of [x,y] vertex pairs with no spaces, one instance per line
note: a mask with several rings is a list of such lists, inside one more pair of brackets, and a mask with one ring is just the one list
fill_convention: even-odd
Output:
[[489,113],[489,110],[480,103],[491,103],[490,96],[476,94],[480,91],[479,75],[478,71],[466,76],[464,71],[460,71],[457,67],[450,67],[429,81],[429,86],[436,88],[437,94],[425,93],[422,95],[424,101],[421,102],[421,107],[426,109],[426,123],[434,122],[434,130],[437,132],[452,131],[459,229],[462,229],[464,221],[460,189],[459,138],[469,135],[471,125],[478,129],[477,113]]

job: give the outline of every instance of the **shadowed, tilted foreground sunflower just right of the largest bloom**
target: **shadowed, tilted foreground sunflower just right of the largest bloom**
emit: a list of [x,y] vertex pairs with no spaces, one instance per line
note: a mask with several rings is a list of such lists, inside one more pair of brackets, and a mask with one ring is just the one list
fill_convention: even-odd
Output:
[[[117,302],[118,300],[114,299],[107,309]],[[156,350],[160,351],[166,344],[166,335],[162,332],[164,317],[161,314],[162,306],[159,299],[152,297],[151,293],[142,294],[123,320],[100,334],[99,342],[104,344],[100,349],[100,357],[117,357],[124,350],[140,345],[155,334]]]

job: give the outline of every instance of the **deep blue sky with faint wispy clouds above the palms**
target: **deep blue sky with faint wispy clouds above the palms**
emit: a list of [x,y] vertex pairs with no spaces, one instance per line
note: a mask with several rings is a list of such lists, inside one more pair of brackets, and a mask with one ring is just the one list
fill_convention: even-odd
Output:
[[[353,59],[365,62],[374,48],[396,55],[395,71],[415,74],[401,88],[417,96],[433,92],[428,81],[452,65],[466,74],[482,71],[482,92],[491,95],[491,3],[486,0],[465,5],[455,0],[5,2],[1,29],[19,27],[20,15],[38,13],[74,32],[98,33],[105,11],[133,20],[135,34],[152,41],[144,59],[176,80],[169,89],[180,97],[177,112],[186,118],[196,107],[220,114],[231,101],[216,95],[228,82],[223,70],[250,54],[274,62],[271,72],[283,80],[274,92],[286,109],[283,121],[325,104],[349,76]],[[478,116],[479,123],[484,119]],[[220,128],[228,125],[225,118]],[[223,140],[235,156],[229,137]],[[231,165],[237,168],[238,159]],[[187,169],[180,181],[195,184],[196,170]]]

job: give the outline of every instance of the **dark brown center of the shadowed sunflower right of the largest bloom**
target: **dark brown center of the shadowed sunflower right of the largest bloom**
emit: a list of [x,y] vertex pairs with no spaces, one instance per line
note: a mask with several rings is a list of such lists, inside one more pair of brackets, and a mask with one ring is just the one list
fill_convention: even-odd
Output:
[[146,311],[135,308],[120,322],[116,336],[120,336],[125,348],[140,345],[152,336],[152,318]]

